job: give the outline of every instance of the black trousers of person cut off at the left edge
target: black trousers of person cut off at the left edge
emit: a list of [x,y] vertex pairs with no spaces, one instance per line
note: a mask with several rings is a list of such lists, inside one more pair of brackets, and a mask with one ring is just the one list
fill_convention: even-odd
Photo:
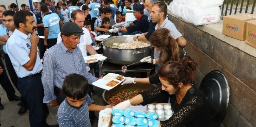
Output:
[[13,97],[15,96],[15,90],[11,85],[9,77],[7,76],[7,72],[6,72],[6,69],[4,68],[4,63],[2,62],[1,58],[0,58],[0,66],[4,69],[4,72],[0,75],[0,84],[2,88],[4,88],[4,91],[6,92],[8,99],[13,99]]

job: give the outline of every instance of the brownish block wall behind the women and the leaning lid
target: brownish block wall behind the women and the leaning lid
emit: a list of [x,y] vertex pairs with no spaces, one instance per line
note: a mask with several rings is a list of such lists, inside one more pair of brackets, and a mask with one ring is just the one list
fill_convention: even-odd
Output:
[[198,63],[196,86],[199,86],[203,77],[213,70],[221,71],[228,79],[230,98],[222,125],[256,127],[256,58],[254,55],[249,55],[246,51],[219,39],[225,36],[221,32],[216,33],[221,36],[218,38],[215,32],[210,34],[207,30],[200,29],[200,26],[193,26],[170,14],[168,16],[187,39],[185,47],[187,54]]

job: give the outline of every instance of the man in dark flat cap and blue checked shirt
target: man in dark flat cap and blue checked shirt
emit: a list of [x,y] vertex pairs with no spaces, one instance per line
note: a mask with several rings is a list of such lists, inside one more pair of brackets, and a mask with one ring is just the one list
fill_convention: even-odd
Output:
[[[84,34],[74,22],[66,22],[61,27],[62,43],[52,46],[43,56],[42,83],[44,89],[43,103],[50,103],[55,106],[61,104],[65,99],[62,93],[64,78],[73,73],[83,75],[92,84],[97,77],[94,77],[86,70],[85,60],[82,52],[77,47],[80,43],[80,36]],[[54,86],[59,88],[59,95],[54,95]],[[64,99],[63,99],[64,98]]]

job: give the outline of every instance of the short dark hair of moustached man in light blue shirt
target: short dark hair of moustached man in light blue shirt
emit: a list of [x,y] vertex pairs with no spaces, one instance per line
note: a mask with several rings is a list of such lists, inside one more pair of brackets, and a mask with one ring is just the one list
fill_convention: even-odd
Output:
[[33,16],[33,13],[29,11],[17,11],[13,17],[16,28],[20,28],[20,23],[26,24],[28,21],[26,17]]

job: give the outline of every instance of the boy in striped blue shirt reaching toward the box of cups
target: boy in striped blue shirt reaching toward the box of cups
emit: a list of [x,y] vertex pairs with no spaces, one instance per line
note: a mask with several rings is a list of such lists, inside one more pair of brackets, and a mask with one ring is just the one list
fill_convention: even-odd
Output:
[[91,127],[89,111],[112,108],[111,105],[95,105],[87,94],[89,83],[83,75],[70,74],[63,81],[65,100],[59,106],[57,121],[59,127]]

